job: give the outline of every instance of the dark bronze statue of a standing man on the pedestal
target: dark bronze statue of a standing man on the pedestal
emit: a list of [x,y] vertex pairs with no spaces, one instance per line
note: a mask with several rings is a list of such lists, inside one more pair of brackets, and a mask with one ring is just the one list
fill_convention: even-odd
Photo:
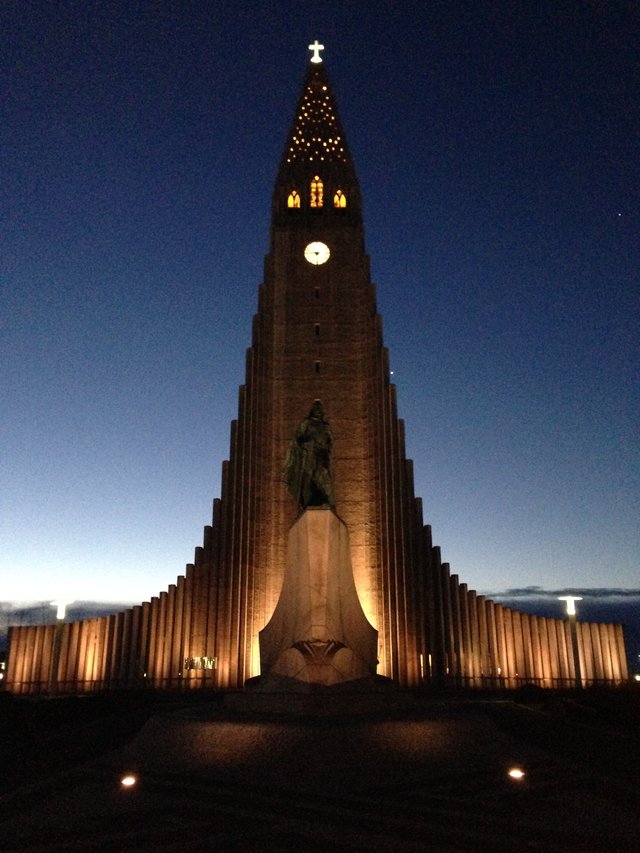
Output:
[[284,466],[284,481],[298,506],[333,508],[331,449],[333,436],[324,419],[324,409],[316,400],[291,439]]

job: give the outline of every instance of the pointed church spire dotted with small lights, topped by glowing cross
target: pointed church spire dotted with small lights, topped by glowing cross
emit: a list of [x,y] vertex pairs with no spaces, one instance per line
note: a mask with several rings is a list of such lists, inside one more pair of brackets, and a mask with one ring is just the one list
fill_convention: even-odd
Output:
[[335,194],[340,192],[345,199],[341,207],[345,218],[352,224],[360,222],[358,179],[325,63],[319,54],[322,49],[324,46],[317,39],[309,45],[312,56],[276,179],[274,224],[281,223],[280,214],[287,209],[292,191],[300,194],[301,207],[305,202],[310,203],[309,188],[316,178],[323,186],[323,207],[331,209]]

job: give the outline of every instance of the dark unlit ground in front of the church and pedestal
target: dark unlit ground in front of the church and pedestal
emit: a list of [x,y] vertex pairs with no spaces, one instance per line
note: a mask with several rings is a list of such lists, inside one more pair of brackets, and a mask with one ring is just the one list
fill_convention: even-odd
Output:
[[638,691],[0,700],[2,851],[640,849]]

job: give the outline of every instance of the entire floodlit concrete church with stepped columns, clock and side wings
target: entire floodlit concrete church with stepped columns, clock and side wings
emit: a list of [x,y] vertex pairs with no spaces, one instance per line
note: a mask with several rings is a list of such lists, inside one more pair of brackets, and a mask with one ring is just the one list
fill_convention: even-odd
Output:
[[378,632],[378,674],[405,687],[628,677],[621,626],[503,607],[441,563],[389,382],[360,188],[315,48],[276,179],[246,378],[203,545],[149,602],[12,628],[7,688],[238,688],[259,675],[258,634],[278,603],[297,512],[283,464],[317,400],[333,434],[335,509],[349,532],[358,597]]

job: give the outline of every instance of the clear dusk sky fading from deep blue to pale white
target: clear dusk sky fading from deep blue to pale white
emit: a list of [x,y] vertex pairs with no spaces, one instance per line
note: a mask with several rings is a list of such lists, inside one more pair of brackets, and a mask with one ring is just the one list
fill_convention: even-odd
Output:
[[640,588],[636,2],[4,0],[0,30],[0,601],[148,600],[202,543],[315,38],[443,560]]

